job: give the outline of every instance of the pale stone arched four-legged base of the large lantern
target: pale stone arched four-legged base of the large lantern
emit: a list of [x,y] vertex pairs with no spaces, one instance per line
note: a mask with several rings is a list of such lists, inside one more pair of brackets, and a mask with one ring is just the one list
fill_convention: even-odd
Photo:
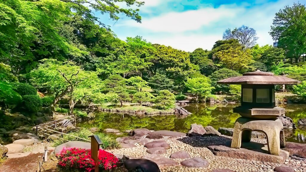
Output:
[[252,131],[266,134],[268,151],[271,155],[280,155],[280,148],[285,148],[285,135],[281,120],[277,118],[260,120],[245,117],[240,117],[235,122],[231,148],[241,148],[241,141],[250,142]]

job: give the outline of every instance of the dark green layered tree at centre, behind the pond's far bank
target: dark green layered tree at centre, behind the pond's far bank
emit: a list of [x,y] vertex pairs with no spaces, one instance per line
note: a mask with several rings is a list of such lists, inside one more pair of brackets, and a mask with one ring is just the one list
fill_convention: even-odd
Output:
[[169,90],[173,92],[175,89],[174,80],[169,79],[166,75],[161,73],[156,73],[156,75],[150,77],[148,85],[153,88],[155,92],[159,92],[160,90]]

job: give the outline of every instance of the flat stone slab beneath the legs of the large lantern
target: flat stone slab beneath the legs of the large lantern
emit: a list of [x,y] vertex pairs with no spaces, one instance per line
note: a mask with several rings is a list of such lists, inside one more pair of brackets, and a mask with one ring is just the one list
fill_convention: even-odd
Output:
[[285,163],[285,160],[289,158],[289,152],[284,150],[281,150],[280,155],[277,156],[244,148],[234,149],[226,146],[208,146],[207,148],[216,156],[236,159],[248,159],[283,164]]

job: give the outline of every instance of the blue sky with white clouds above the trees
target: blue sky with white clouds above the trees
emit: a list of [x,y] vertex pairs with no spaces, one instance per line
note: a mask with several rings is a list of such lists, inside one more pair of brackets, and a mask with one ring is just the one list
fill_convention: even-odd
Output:
[[[140,0],[141,1],[141,0]],[[298,0],[143,0],[139,7],[142,23],[121,16],[111,21],[96,13],[100,20],[111,26],[116,35],[142,36],[151,43],[164,44],[180,50],[196,48],[210,50],[227,28],[242,25],[254,28],[259,37],[257,43],[272,44],[269,35],[275,13],[284,6],[292,6]],[[299,1],[302,4],[306,0]],[[125,7],[125,4],[119,3]]]

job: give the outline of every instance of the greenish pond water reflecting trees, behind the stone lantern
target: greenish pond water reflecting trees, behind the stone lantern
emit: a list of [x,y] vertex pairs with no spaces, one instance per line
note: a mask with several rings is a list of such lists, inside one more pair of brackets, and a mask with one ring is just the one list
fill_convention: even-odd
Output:
[[[184,107],[191,112],[188,116],[145,116],[113,114],[106,112],[95,112],[95,118],[91,121],[84,121],[78,124],[79,127],[98,127],[101,129],[113,128],[121,132],[126,129],[146,128],[149,130],[170,130],[187,133],[190,125],[197,123],[203,126],[211,125],[215,129],[219,127],[233,128],[239,114],[233,113],[233,107],[239,104],[209,104],[190,103]],[[281,107],[286,109],[286,116],[293,119],[297,124],[300,118],[306,118],[306,104],[287,104]],[[306,143],[306,126],[297,126],[295,130],[286,130],[286,140],[290,142]]]

